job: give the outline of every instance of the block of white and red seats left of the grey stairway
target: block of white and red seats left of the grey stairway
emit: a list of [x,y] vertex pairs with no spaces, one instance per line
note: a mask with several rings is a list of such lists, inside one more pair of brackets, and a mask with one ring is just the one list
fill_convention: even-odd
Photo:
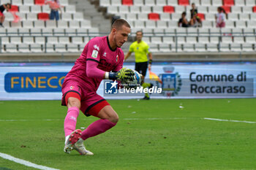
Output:
[[78,53],[79,45],[71,45],[72,36],[82,38],[90,33],[85,39],[91,39],[99,35],[99,28],[93,28],[91,20],[84,19],[83,13],[77,12],[75,5],[67,0],[60,1],[64,8],[59,21],[49,20],[50,8],[45,0],[0,1],[1,4],[8,2],[12,3],[11,11],[16,12],[20,20],[14,23],[12,13],[4,12],[6,20],[4,28],[0,29],[1,53]]

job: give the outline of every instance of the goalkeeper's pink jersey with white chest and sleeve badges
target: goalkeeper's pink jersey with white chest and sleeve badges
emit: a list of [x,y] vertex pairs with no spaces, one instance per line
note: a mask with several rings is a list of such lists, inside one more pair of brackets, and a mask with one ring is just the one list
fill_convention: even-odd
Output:
[[[86,65],[91,62],[97,63],[97,68],[87,69]],[[72,67],[70,72],[65,77],[63,86],[68,80],[75,80],[83,85],[83,89],[89,91],[97,91],[99,84],[103,79],[103,74],[97,77],[88,77],[88,72],[97,72],[100,69],[105,72],[117,72],[120,70],[124,63],[124,52],[121,48],[117,47],[116,50],[110,48],[108,36],[95,37],[91,39],[86,47],[84,47],[83,53],[80,58],[75,61],[75,66]],[[87,66],[89,68],[89,66]],[[91,68],[91,66],[90,66]],[[99,72],[101,73],[101,72]],[[102,78],[99,78],[102,77]]]

